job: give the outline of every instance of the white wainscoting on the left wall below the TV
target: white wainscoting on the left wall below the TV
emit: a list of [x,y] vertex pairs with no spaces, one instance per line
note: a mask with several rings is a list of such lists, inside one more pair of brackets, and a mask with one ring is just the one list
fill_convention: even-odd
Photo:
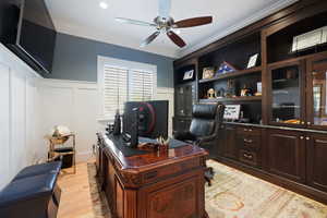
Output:
[[41,158],[37,138],[39,75],[0,44],[0,190]]

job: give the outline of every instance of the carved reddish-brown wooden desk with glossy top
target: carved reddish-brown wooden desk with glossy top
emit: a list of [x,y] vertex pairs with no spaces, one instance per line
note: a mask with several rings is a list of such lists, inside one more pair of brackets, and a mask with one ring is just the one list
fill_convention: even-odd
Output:
[[186,145],[125,157],[106,134],[98,140],[98,175],[113,217],[207,217],[204,149]]

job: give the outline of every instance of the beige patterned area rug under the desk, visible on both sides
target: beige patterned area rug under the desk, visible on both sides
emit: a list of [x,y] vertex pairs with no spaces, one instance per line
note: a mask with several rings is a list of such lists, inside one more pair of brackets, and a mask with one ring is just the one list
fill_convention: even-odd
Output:
[[[215,170],[211,186],[206,185],[206,210],[210,218],[327,218],[327,206],[280,186],[208,160]],[[106,197],[88,164],[90,196],[96,218],[111,218]]]

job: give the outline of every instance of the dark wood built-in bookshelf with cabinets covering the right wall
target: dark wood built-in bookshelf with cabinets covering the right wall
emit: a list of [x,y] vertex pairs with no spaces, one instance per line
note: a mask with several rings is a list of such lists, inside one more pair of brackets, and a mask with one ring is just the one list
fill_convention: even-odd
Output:
[[[192,99],[186,102],[242,106],[247,118],[242,122],[247,122],[223,123],[218,153],[211,156],[327,203],[327,44],[292,51],[293,37],[324,26],[327,1],[300,0],[174,61],[174,78],[175,88],[192,86]],[[259,60],[247,69],[255,53]],[[205,68],[217,70],[223,61],[237,71],[203,78]],[[192,81],[181,80],[184,69],[194,69]],[[235,83],[232,96],[208,98],[208,89],[226,89],[230,80]],[[254,95],[257,83],[262,83],[262,96]],[[243,86],[252,89],[252,96],[241,96]],[[178,110],[189,111],[187,116],[175,110],[174,118],[174,126],[184,130],[192,117],[192,105],[185,107]]]

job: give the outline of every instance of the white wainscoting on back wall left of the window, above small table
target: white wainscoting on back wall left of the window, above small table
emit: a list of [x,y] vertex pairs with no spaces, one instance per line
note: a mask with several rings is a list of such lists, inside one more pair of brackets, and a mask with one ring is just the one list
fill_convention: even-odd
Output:
[[[41,134],[48,134],[55,125],[65,125],[76,134],[76,160],[90,158],[97,132],[99,98],[96,83],[43,80],[39,88]],[[48,144],[46,140],[44,143]]]

